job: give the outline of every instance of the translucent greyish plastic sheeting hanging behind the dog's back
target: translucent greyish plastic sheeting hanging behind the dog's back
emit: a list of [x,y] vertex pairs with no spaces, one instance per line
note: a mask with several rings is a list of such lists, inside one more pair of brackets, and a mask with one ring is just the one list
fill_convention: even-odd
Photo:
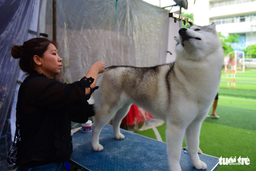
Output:
[[[46,6],[43,29],[51,39],[52,1]],[[165,63],[168,13],[141,0],[118,0],[117,6],[116,0],[57,0],[57,42],[63,58],[58,79],[79,80],[97,60],[107,66]]]

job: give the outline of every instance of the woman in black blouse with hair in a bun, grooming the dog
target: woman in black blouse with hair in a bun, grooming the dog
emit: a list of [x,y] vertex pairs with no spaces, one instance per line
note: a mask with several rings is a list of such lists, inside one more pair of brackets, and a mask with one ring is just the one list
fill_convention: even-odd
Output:
[[94,115],[87,100],[98,88],[97,75],[104,71],[104,63],[94,63],[80,81],[63,84],[52,79],[62,68],[56,43],[33,38],[13,46],[11,54],[20,58],[27,78],[18,93],[16,132],[7,161],[18,171],[63,170],[73,152],[70,120],[85,123]]

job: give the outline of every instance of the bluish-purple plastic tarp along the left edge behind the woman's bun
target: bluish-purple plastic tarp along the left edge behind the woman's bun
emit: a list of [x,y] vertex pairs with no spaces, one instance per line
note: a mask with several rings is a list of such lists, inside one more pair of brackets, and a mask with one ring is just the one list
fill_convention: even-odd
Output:
[[0,136],[20,71],[11,48],[26,40],[33,4],[33,0],[0,1]]

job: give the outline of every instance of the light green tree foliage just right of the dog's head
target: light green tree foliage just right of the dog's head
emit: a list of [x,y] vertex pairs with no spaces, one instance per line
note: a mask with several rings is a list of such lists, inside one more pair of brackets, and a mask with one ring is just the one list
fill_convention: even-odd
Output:
[[219,37],[220,37],[220,40],[222,42],[222,46],[223,46],[223,49],[224,49],[224,54],[226,56],[226,55],[228,55],[229,52],[234,50],[231,47],[231,43],[239,42],[237,40],[237,38],[240,37],[240,35],[238,35],[238,34],[231,34],[228,37],[225,37],[225,36],[219,34]]

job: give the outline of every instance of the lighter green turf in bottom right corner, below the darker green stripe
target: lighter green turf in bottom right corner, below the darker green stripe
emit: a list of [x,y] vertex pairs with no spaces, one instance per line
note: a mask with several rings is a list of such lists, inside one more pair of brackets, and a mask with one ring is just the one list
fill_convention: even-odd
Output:
[[256,170],[256,131],[234,128],[204,122],[200,133],[200,149],[204,154],[220,158],[250,159],[249,165],[222,165],[218,171],[255,171]]

